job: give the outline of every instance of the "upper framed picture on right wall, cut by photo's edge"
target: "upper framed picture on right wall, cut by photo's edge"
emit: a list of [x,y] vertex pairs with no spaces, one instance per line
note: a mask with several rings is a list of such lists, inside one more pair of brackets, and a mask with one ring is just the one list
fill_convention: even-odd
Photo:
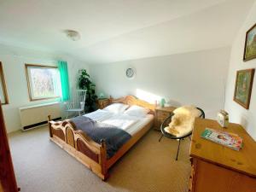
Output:
[[243,61],[252,60],[254,58],[256,58],[256,24],[247,31]]

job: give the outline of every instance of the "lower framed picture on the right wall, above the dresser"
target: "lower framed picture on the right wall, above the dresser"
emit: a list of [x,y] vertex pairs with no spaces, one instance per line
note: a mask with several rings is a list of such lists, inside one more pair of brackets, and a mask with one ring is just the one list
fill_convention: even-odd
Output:
[[234,101],[247,109],[250,106],[254,72],[255,69],[246,69],[236,72]]

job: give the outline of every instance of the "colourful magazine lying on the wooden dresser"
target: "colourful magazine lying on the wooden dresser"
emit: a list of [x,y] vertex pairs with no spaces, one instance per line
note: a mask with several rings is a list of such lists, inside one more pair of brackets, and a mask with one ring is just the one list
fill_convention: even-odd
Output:
[[239,150],[242,147],[242,138],[231,132],[206,128],[201,133],[201,137],[235,150]]

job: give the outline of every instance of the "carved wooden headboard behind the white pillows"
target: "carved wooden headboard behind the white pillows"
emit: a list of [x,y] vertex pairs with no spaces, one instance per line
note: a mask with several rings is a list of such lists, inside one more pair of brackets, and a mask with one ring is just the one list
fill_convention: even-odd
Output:
[[138,99],[136,96],[125,96],[125,97],[121,97],[119,99],[113,99],[112,96],[110,96],[109,98],[109,102],[111,103],[116,103],[116,102],[121,102],[124,103],[126,105],[137,105],[143,108],[148,108],[150,109],[150,113],[154,114],[154,110],[155,110],[155,106],[154,104],[150,104],[149,102],[145,102],[143,100]]

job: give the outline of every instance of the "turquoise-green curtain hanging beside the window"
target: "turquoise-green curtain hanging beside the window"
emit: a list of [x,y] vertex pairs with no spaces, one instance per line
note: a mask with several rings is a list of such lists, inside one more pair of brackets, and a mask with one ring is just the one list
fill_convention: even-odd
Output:
[[67,61],[58,61],[58,68],[60,70],[61,75],[61,101],[65,102],[70,98]]

